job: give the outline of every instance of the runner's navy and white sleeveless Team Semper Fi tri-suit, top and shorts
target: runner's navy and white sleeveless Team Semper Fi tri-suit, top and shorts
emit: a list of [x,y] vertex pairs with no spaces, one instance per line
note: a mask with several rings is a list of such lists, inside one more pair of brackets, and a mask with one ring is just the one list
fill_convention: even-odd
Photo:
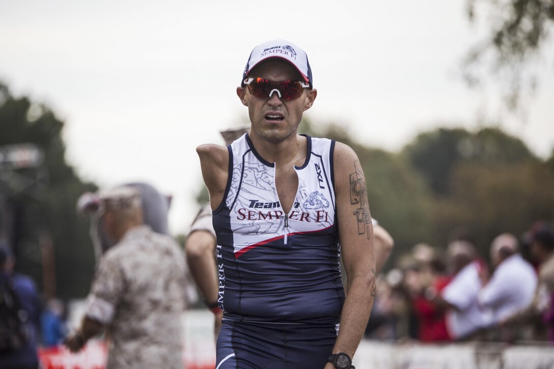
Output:
[[345,299],[340,273],[335,141],[305,136],[298,189],[285,213],[275,165],[248,134],[228,146],[229,176],[213,212],[217,234],[218,369],[324,367]]

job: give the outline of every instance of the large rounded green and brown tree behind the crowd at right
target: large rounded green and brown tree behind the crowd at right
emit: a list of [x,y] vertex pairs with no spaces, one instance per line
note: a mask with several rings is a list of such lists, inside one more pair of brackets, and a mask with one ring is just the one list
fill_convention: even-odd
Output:
[[537,219],[554,218],[554,172],[497,128],[424,132],[403,155],[433,191],[430,232],[439,244],[464,229],[488,255],[496,235],[520,235]]

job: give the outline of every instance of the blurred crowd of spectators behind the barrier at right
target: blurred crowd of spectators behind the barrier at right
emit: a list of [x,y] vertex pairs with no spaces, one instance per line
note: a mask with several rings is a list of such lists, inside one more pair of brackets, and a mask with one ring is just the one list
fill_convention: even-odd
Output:
[[366,337],[422,342],[554,339],[554,233],[536,222],[480,254],[466,234],[418,243],[379,277]]

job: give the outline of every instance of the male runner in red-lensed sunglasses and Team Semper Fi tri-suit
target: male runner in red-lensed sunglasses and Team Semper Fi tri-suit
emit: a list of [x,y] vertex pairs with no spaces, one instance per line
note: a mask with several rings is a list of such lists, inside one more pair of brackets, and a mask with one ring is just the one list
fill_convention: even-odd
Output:
[[255,47],[237,88],[249,134],[197,148],[218,243],[217,369],[351,368],[370,315],[366,182],[350,147],[297,134],[312,83],[296,45]]

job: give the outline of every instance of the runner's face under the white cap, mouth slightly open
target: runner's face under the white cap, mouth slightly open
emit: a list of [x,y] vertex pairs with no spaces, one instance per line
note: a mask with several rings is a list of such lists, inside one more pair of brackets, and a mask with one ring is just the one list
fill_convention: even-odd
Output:
[[[271,81],[302,80],[293,65],[275,59],[262,61],[250,72],[249,77]],[[271,97],[257,98],[250,94],[248,86],[237,88],[237,95],[248,106],[248,115],[252,122],[250,135],[276,143],[296,134],[302,113],[314,103],[317,91],[304,89],[300,98],[289,101],[281,100],[276,92]]]

